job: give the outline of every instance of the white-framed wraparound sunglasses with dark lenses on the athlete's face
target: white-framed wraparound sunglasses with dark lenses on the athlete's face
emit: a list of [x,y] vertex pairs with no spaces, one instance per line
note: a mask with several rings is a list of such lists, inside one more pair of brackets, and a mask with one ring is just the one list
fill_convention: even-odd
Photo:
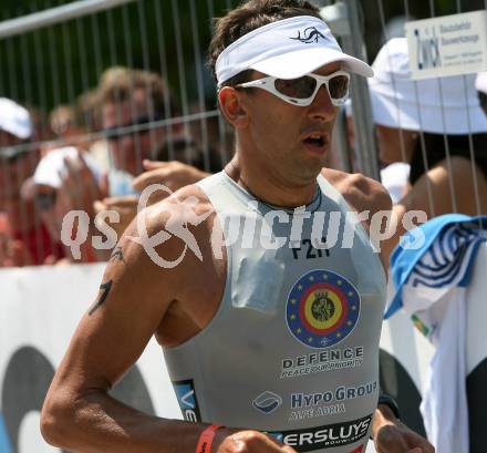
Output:
[[263,79],[240,83],[236,87],[262,89],[290,104],[307,106],[313,102],[321,85],[327,86],[333,105],[343,105],[349,97],[350,74],[345,71],[336,71],[330,75],[309,73],[301,78],[289,80],[269,75]]

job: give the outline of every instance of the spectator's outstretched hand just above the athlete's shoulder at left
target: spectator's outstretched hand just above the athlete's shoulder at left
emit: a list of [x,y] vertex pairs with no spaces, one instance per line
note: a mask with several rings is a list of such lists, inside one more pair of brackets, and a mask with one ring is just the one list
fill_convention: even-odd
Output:
[[144,161],[144,168],[146,172],[137,176],[132,183],[132,186],[137,192],[143,192],[152,184],[163,184],[170,191],[176,192],[184,186],[195,184],[209,176],[209,173],[201,172],[191,165],[183,164],[178,161]]

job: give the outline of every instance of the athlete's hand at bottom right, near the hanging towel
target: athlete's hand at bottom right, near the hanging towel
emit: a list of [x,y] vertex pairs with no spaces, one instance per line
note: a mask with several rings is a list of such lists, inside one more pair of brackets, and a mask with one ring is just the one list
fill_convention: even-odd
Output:
[[375,411],[372,436],[377,453],[435,453],[426,439],[397,420],[384,404]]

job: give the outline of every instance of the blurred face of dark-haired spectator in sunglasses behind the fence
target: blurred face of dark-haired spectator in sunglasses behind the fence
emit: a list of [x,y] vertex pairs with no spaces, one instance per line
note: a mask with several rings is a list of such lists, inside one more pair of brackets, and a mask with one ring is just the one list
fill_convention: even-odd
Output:
[[[153,116],[148,95],[142,89],[133,92],[131,101],[107,103],[102,107],[105,131],[147,123]],[[128,131],[126,134],[108,138],[114,166],[134,176],[141,174],[143,159],[155,157],[155,153],[164,145],[165,135],[163,127],[152,130],[144,127],[139,132]]]

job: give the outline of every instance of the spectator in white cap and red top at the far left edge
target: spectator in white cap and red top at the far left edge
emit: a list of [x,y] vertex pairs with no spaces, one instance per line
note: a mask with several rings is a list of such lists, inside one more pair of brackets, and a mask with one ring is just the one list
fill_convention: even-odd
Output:
[[38,162],[38,151],[29,143],[32,135],[29,112],[9,99],[0,99],[0,267],[40,265],[62,256],[32,200],[21,197],[22,185]]

